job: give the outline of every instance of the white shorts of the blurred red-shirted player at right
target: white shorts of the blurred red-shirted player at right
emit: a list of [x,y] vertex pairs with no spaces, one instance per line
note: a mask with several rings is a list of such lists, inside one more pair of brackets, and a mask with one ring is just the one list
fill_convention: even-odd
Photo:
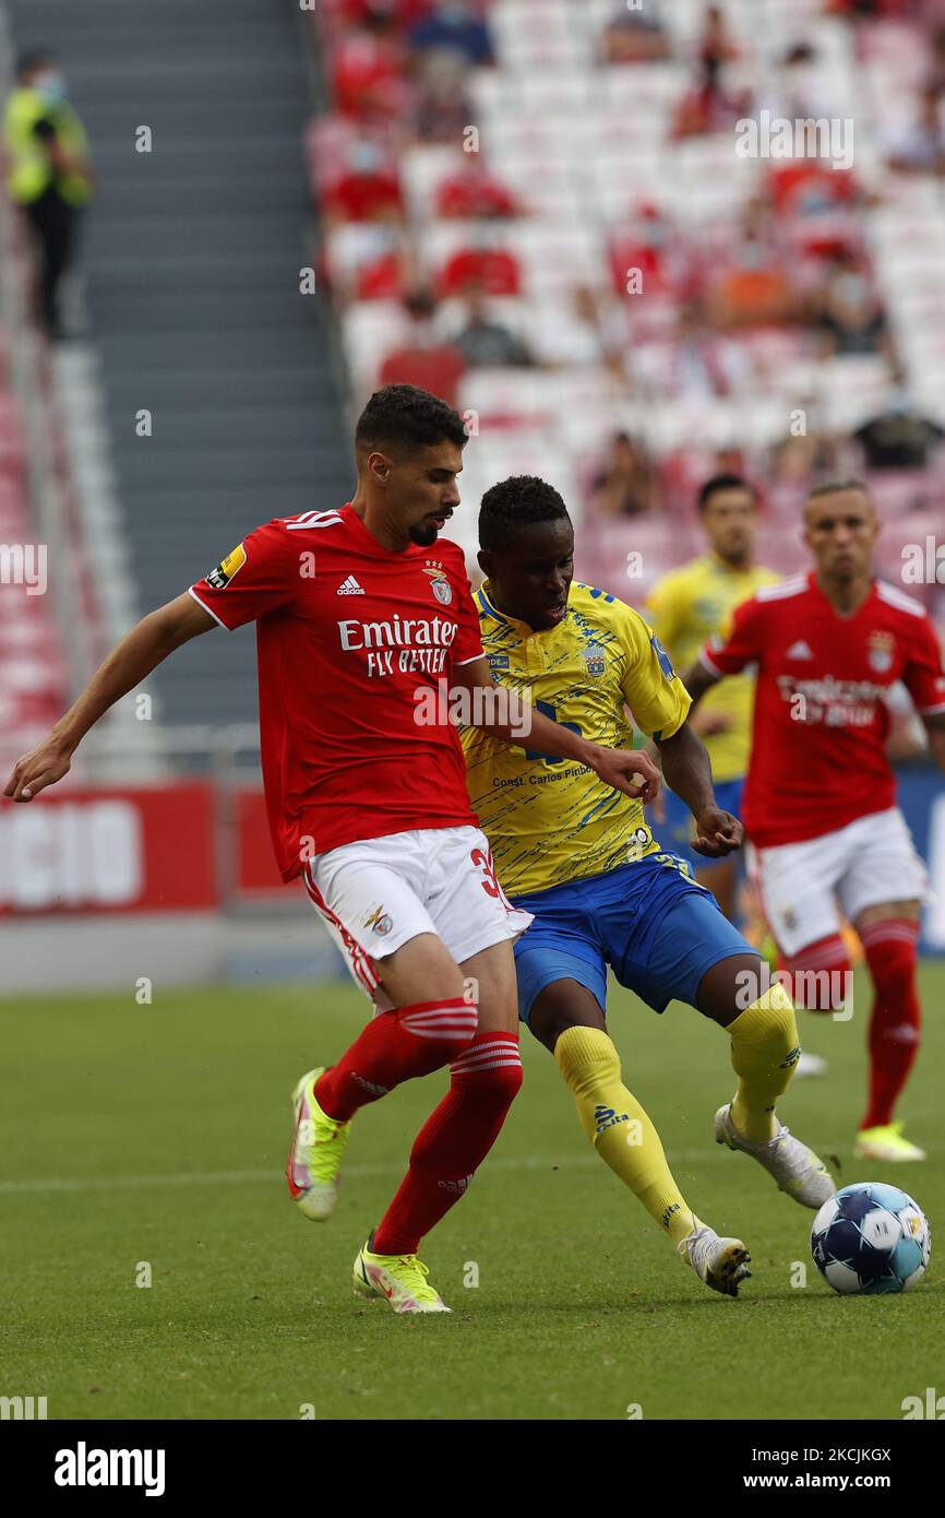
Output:
[[928,873],[898,806],[801,844],[752,849],[749,868],[778,947],[792,958],[880,902],[924,900]]

